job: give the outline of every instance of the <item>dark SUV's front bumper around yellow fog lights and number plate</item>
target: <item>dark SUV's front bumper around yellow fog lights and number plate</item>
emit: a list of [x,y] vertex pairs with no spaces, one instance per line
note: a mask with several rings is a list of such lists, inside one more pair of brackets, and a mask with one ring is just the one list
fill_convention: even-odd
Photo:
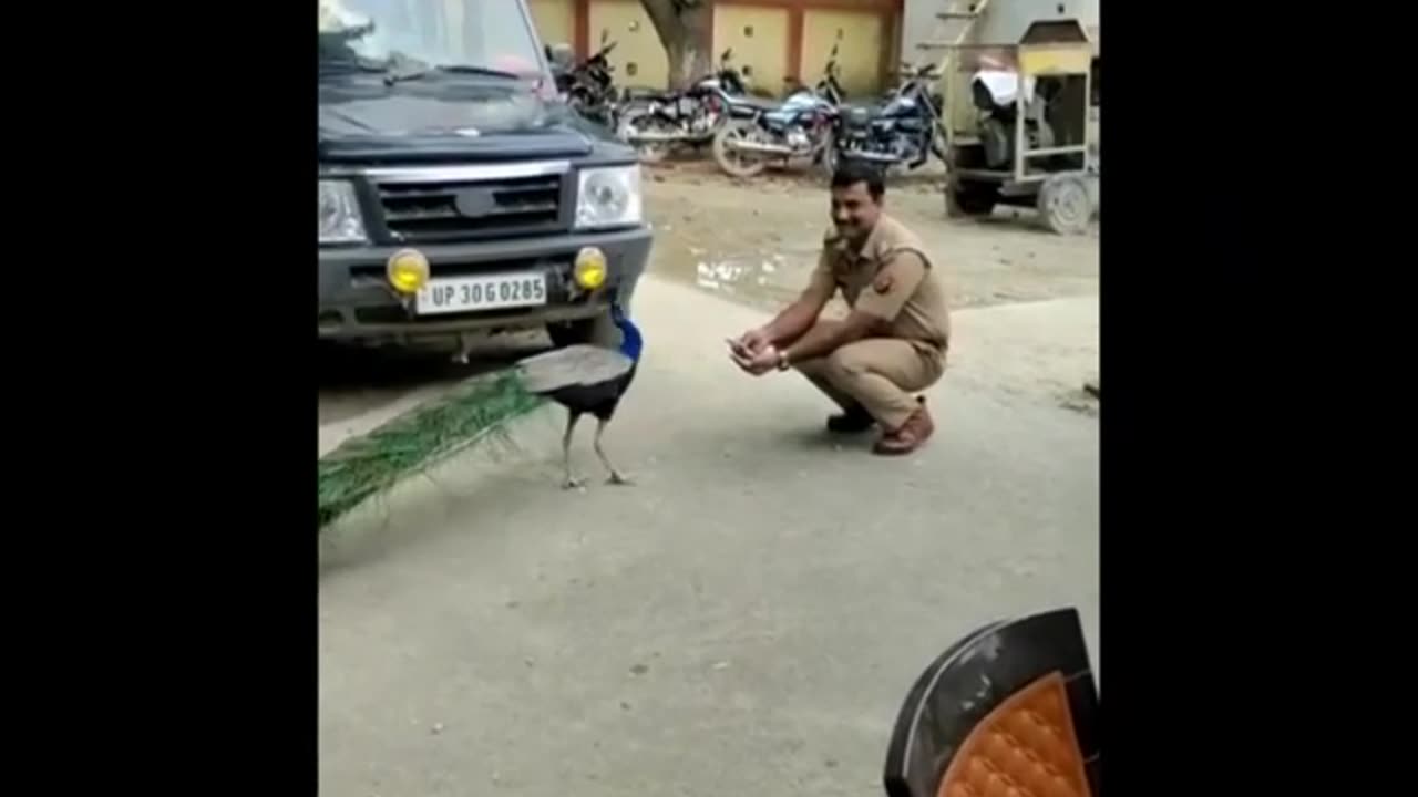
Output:
[[[571,262],[583,247],[605,252],[605,285],[584,292],[571,281]],[[328,340],[404,343],[469,332],[526,329],[560,321],[594,318],[618,295],[630,311],[631,294],[649,260],[647,225],[608,233],[570,233],[418,247],[428,258],[430,278],[467,277],[499,269],[546,275],[547,302],[529,308],[418,316],[390,288],[384,267],[401,247],[359,245],[320,250],[319,336]]]

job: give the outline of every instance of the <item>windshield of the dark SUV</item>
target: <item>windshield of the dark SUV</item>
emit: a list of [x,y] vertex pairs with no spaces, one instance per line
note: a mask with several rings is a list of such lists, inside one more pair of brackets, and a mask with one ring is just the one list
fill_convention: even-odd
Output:
[[509,0],[319,0],[320,60],[481,67],[542,77],[536,35]]

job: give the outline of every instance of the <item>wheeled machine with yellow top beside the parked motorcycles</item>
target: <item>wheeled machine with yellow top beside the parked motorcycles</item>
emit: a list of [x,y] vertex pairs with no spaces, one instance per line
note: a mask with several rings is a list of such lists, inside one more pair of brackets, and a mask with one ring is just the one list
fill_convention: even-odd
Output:
[[1088,230],[1092,44],[1078,20],[1037,21],[1011,45],[959,45],[946,211],[1037,207],[1061,234]]

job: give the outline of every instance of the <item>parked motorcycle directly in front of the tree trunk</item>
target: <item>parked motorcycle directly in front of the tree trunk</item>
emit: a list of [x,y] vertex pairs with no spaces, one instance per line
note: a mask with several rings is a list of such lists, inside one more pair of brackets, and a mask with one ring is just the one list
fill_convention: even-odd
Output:
[[730,64],[733,48],[719,55],[719,68],[682,92],[625,89],[617,136],[640,152],[641,162],[662,160],[675,146],[695,149],[713,140],[730,105],[747,87]]

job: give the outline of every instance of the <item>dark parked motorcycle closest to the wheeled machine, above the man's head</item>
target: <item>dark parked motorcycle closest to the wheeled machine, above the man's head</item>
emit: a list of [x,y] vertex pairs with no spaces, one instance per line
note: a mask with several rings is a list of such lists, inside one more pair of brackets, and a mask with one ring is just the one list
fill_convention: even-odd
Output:
[[875,106],[844,106],[827,166],[865,160],[882,167],[919,169],[932,155],[946,160],[942,102],[930,87],[940,79],[933,64],[906,65],[900,85]]

